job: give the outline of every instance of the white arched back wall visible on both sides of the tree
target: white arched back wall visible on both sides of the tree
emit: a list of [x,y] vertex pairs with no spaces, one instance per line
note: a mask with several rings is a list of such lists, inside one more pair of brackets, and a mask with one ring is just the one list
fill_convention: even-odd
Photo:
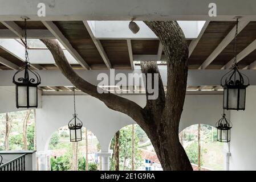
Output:
[[[145,96],[124,96],[145,106]],[[180,130],[197,123],[214,126],[221,117],[222,96],[191,96],[185,99]],[[42,109],[36,110],[37,150],[47,150],[52,133],[67,125],[73,114],[73,96],[42,96]],[[135,123],[123,113],[108,109],[103,102],[91,96],[76,96],[76,110],[83,126],[99,140],[101,151],[108,152],[116,131]]]

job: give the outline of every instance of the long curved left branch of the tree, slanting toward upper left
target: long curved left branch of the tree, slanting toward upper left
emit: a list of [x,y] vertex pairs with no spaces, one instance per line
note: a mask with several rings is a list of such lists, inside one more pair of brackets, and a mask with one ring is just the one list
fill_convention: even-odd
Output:
[[120,111],[121,113],[129,115],[135,120],[141,127],[145,125],[143,109],[135,102],[126,98],[116,96],[112,93],[98,93],[97,86],[90,84],[86,80],[83,80],[68,63],[62,48],[59,46],[56,40],[40,39],[46,47],[51,51],[54,57],[56,65],[58,65],[60,71],[64,76],[68,78],[78,89],[84,93],[89,94],[92,97],[98,98],[100,101],[112,110]]

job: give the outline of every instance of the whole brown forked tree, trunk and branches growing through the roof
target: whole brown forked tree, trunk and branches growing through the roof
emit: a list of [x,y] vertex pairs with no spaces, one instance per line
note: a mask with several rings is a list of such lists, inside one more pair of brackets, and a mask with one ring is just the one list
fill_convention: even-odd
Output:
[[[99,94],[90,84],[73,71],[55,40],[41,40],[51,51],[63,75],[78,89],[98,98],[110,109],[129,115],[147,133],[164,170],[192,170],[188,156],[178,138],[178,126],[186,93],[188,76],[188,46],[176,21],[146,21],[145,24],[159,37],[167,57],[168,85],[165,96],[159,75],[159,97],[147,100],[141,108],[135,102],[112,93]],[[141,64],[144,73],[159,73],[155,62]],[[146,93],[147,94],[147,93]],[[148,94],[147,94],[148,98]]]

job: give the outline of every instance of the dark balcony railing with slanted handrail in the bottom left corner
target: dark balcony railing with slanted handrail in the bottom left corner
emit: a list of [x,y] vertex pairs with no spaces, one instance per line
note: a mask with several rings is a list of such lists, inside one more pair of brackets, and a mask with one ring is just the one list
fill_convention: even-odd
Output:
[[11,160],[10,162],[0,165],[0,171],[25,171],[26,155],[27,154],[23,154]]

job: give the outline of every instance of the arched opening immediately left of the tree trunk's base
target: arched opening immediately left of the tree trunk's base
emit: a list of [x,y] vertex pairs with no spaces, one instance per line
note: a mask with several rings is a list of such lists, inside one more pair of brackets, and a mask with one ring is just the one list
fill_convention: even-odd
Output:
[[[118,131],[117,131],[118,132]],[[133,136],[133,137],[132,137]],[[116,170],[116,135],[112,138],[109,148],[113,150],[110,158],[110,170]],[[119,130],[119,170],[142,170],[159,171],[162,170],[161,164],[157,159],[155,149],[147,134],[137,124],[122,127]],[[133,138],[133,139],[132,139]],[[134,142],[132,142],[134,141]],[[132,144],[133,143],[133,144]],[[134,150],[132,149],[134,148]],[[134,151],[134,157],[132,153]],[[134,158],[134,159],[132,159]],[[134,168],[132,167],[134,161]]]

